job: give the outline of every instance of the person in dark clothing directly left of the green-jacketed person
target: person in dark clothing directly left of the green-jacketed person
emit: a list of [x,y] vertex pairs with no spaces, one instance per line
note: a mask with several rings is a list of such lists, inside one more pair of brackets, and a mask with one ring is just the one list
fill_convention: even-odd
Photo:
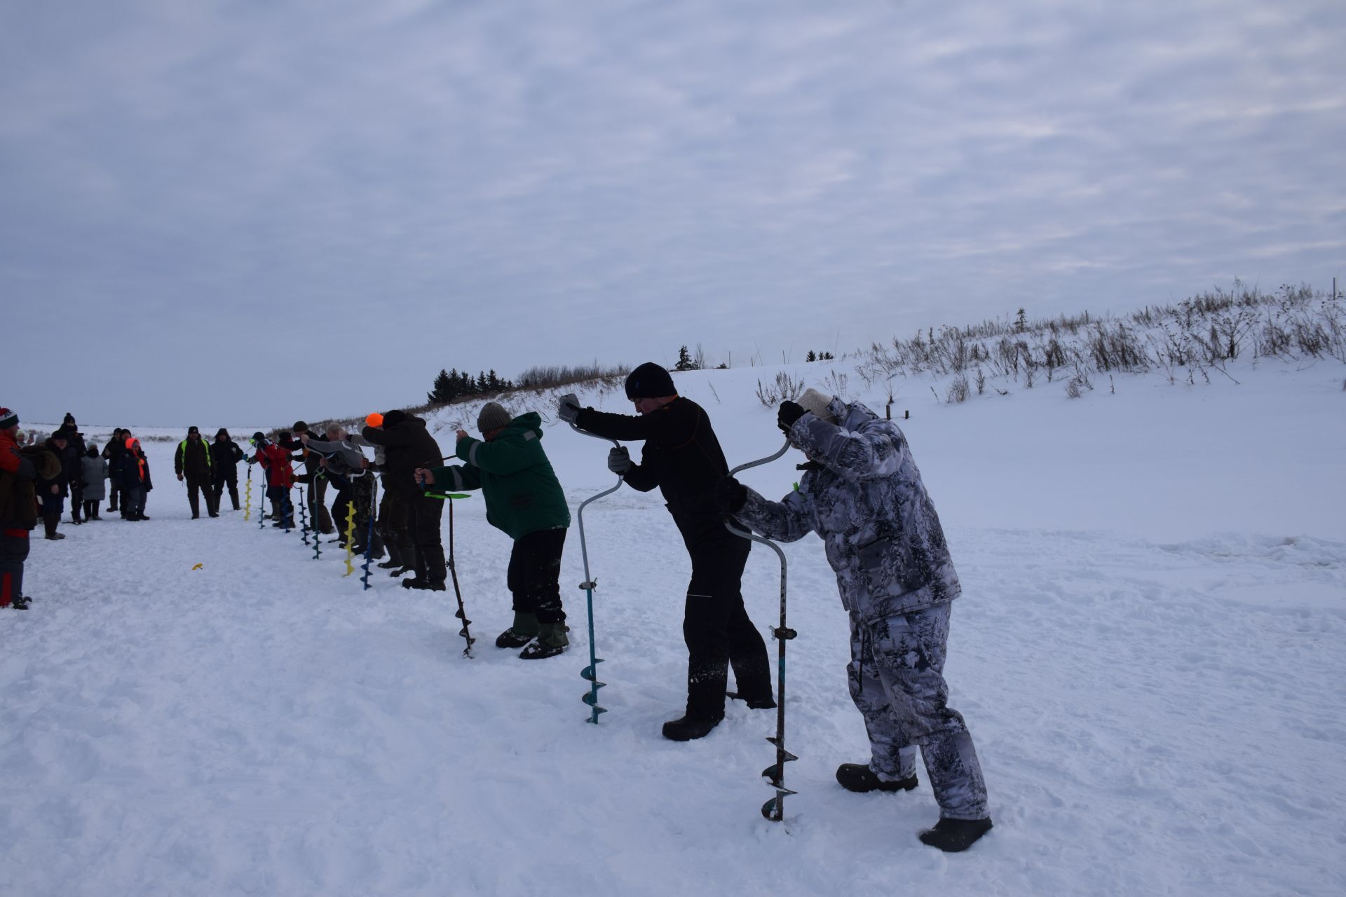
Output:
[[444,563],[444,545],[440,537],[440,519],[444,503],[421,495],[416,484],[417,468],[439,467],[443,456],[439,442],[425,429],[425,421],[402,410],[384,414],[381,428],[366,426],[361,430],[371,445],[382,445],[388,452],[384,488],[405,498],[408,510],[408,535],[412,542],[416,576],[402,580],[408,589],[443,590],[448,578]]

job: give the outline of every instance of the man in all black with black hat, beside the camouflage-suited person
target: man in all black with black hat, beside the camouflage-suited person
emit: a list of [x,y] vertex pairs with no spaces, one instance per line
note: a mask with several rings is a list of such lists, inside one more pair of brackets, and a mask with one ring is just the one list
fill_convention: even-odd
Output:
[[701,738],[724,718],[724,689],[734,667],[738,693],[750,707],[774,707],[762,635],[743,607],[740,582],[752,543],[724,529],[715,484],[728,473],[724,452],[705,409],[677,395],[669,373],[647,362],[626,378],[626,397],[639,417],[579,407],[561,397],[559,414],[587,433],[643,440],[641,463],[625,448],[608,453],[608,468],[641,492],[660,487],[692,557],[682,637],[686,641],[686,713],[664,724],[673,741]]

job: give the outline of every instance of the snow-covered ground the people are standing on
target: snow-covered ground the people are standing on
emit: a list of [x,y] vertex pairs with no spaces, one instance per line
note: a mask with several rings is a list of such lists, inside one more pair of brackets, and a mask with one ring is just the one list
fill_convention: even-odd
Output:
[[[754,397],[773,373],[678,375],[731,464],[781,444]],[[335,545],[315,561],[242,512],[190,520],[174,444],[148,442],[153,519],[35,539],[34,607],[0,615],[0,894],[1346,893],[1343,368],[1230,373],[1077,401],[898,391],[964,584],[946,672],[996,827],[961,855],[917,841],[937,818],[923,769],[903,795],[833,780],[868,753],[813,537],[786,547],[798,795],[775,824],[774,714],[731,705],[703,741],[660,737],[689,565],[657,494],[586,514],[610,710],[592,726],[573,527],[572,648],[525,663],[491,644],[509,541],[479,496],[456,503],[464,659],[452,592],[377,569],[363,592]],[[511,410],[530,407],[551,420],[549,398]],[[446,453],[456,422],[435,420]],[[544,445],[572,510],[611,484],[600,441],[553,422]],[[746,481],[783,495],[787,459]],[[763,629],[777,577],[755,549]]]

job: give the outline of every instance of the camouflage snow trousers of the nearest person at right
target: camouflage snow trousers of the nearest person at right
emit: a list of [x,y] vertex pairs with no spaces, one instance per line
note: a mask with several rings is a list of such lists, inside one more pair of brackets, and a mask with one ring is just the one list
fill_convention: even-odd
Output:
[[985,819],[987,783],[968,726],[948,706],[944,659],[949,604],[871,620],[851,615],[851,699],[870,733],[870,768],[915,775],[917,746],[945,819]]

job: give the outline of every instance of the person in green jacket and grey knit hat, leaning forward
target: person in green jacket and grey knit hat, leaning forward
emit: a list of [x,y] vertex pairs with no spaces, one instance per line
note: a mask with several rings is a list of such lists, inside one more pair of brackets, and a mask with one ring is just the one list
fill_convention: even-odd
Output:
[[518,655],[525,660],[553,658],[569,644],[560,576],[571,511],[542,451],[541,424],[536,412],[510,418],[501,405],[487,402],[476,417],[482,440],[458,430],[455,455],[463,464],[416,471],[423,485],[479,488],[486,522],[514,539],[505,574],[514,597],[514,624],[495,639],[495,647],[528,646]]

